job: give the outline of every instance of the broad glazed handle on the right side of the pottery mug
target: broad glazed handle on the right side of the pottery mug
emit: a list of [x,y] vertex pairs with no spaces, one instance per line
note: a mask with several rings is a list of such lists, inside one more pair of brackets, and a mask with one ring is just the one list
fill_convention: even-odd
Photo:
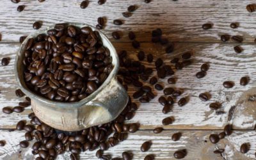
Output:
[[127,91],[114,77],[106,88],[86,104],[86,112],[82,109],[79,111],[79,124],[87,128],[111,122],[120,115],[127,102]]

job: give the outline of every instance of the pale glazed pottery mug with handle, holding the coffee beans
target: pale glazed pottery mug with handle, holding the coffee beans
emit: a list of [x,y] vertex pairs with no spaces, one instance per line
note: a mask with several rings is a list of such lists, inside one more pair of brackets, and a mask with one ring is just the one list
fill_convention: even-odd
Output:
[[128,95],[122,84],[116,80],[119,68],[119,60],[115,47],[111,44],[104,33],[88,24],[67,23],[79,28],[89,26],[93,31],[98,31],[103,45],[108,47],[113,70],[104,83],[91,95],[79,102],[56,102],[45,99],[40,95],[31,92],[24,82],[24,58],[25,45],[29,38],[35,38],[38,34],[47,33],[46,29],[39,29],[29,35],[21,44],[15,60],[15,76],[22,92],[31,98],[31,107],[35,115],[47,125],[61,131],[80,131],[93,125],[105,124],[114,120],[125,108],[128,102]]

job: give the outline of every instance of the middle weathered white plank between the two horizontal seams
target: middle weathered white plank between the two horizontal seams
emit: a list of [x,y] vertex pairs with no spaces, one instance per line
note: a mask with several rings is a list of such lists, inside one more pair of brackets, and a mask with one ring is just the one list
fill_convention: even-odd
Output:
[[[114,43],[117,51],[127,50],[129,56],[135,60],[137,50],[132,49],[130,43]],[[176,84],[168,84],[165,79],[159,79],[159,83],[163,86],[172,86],[175,89],[182,90],[182,95],[177,97],[179,100],[181,97],[187,97],[188,104],[183,107],[179,107],[177,103],[174,104],[170,113],[164,115],[162,108],[158,103],[158,98],[163,95],[163,91],[154,90],[157,95],[150,103],[140,104],[138,100],[134,100],[140,104],[140,108],[136,111],[136,114],[129,122],[140,122],[141,129],[154,129],[154,127],[161,125],[163,118],[167,116],[173,116],[175,121],[172,125],[164,126],[166,129],[222,129],[228,123],[228,111],[237,104],[237,100],[246,90],[255,87],[255,46],[243,45],[244,52],[236,54],[234,52],[232,44],[205,44],[205,43],[176,43],[175,52],[172,54],[164,54],[164,50],[161,45],[142,43],[141,49],[146,53],[152,53],[154,55],[154,61],[157,57],[163,58],[164,62],[168,65],[172,65],[170,60],[173,57],[180,57],[180,55],[186,51],[192,51],[193,61],[189,67],[184,67],[182,70],[175,70],[175,74],[172,77],[177,78]],[[17,83],[13,74],[13,63],[15,53],[19,49],[19,44],[0,44],[0,59],[3,57],[10,57],[10,65],[1,67],[3,72],[0,72],[0,90],[1,90],[1,109],[4,106],[17,106],[17,103],[22,99],[15,97],[15,89],[17,89]],[[200,71],[200,65],[203,63],[209,64],[209,70],[207,76],[202,79],[195,77],[196,72]],[[154,63],[148,64],[143,61],[147,67],[154,67]],[[154,72],[156,75],[156,72]],[[153,76],[153,75],[152,75]],[[250,77],[250,83],[247,86],[241,86],[239,84],[240,78],[243,76]],[[234,81],[235,86],[227,89],[223,88],[223,81]],[[145,82],[146,85],[148,81]],[[129,95],[132,95],[138,88],[131,87],[129,89]],[[200,93],[209,92],[211,99],[207,102],[202,102],[198,99]],[[177,100],[175,100],[177,102]],[[225,114],[216,115],[215,111],[209,108],[211,102],[221,102],[221,111],[225,111]],[[254,102],[252,102],[252,105]],[[246,108],[246,106],[245,106]],[[242,109],[243,110],[243,109]],[[19,120],[26,119],[30,108],[26,109],[24,113],[12,113],[6,115],[0,111],[0,127],[8,129],[15,127],[15,124]],[[232,117],[230,123],[233,123],[236,129],[253,129],[255,125],[255,118],[253,113],[255,108],[251,107],[248,112],[244,112],[241,115],[239,111],[234,114],[239,116]]]

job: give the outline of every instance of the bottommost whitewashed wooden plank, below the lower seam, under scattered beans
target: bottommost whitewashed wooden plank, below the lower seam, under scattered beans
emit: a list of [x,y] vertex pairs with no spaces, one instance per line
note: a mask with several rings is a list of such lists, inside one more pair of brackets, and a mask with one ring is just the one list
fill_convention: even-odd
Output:
[[[231,136],[220,140],[216,145],[209,141],[209,135],[212,131],[180,131],[182,137],[179,141],[173,141],[172,134],[177,131],[163,131],[160,134],[154,134],[152,131],[138,131],[134,134],[129,134],[127,140],[122,141],[115,147],[109,148],[104,154],[112,157],[122,157],[122,152],[128,151],[133,155],[133,159],[143,159],[147,154],[155,155],[156,159],[174,159],[173,153],[176,150],[186,148],[188,154],[184,159],[255,159],[255,131],[236,131]],[[214,131],[218,133],[220,131]],[[14,138],[15,137],[15,138]],[[24,140],[24,132],[8,132],[0,131],[0,140],[7,140],[4,147],[0,147],[0,159],[16,160],[16,159],[33,159],[31,148],[20,148],[19,141]],[[141,144],[145,141],[152,141],[150,150],[141,152]],[[206,140],[206,141],[205,141]],[[33,145],[34,141],[30,142]],[[242,143],[250,143],[250,151],[247,154],[239,152]],[[224,148],[225,153],[214,154],[213,150]],[[21,152],[20,152],[21,151]],[[92,152],[84,152],[80,154],[81,159],[97,159],[94,150]],[[70,153],[58,156],[58,159],[69,159]]]

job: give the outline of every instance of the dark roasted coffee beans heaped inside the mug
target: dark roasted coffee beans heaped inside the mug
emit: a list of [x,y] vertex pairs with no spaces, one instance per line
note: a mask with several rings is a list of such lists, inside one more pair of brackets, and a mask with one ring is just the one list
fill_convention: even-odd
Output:
[[105,81],[113,65],[97,31],[56,24],[47,34],[29,38],[24,51],[24,81],[47,99],[76,102]]

